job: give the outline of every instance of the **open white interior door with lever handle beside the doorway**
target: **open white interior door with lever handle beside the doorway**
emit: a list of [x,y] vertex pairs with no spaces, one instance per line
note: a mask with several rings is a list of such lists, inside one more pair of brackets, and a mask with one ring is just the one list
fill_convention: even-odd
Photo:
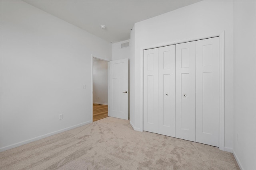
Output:
[[128,59],[109,62],[108,115],[128,120]]

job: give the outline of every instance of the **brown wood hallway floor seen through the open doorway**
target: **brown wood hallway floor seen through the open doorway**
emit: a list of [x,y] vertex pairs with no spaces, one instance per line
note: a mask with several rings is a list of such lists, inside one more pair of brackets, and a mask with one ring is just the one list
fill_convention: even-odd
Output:
[[105,117],[108,117],[108,105],[93,104],[92,121],[97,121]]

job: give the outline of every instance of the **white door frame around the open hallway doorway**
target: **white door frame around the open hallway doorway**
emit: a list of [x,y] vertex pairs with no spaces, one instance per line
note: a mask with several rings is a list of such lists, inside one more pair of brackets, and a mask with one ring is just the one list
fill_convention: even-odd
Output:
[[[93,122],[93,93],[92,93],[92,90],[93,90],[93,58],[94,59],[99,59],[99,60],[102,60],[102,61],[106,61],[106,62],[109,62],[110,60],[107,60],[107,59],[102,59],[101,57],[97,57],[93,54],[91,54],[91,123]],[[109,75],[109,66],[108,66],[108,75]]]

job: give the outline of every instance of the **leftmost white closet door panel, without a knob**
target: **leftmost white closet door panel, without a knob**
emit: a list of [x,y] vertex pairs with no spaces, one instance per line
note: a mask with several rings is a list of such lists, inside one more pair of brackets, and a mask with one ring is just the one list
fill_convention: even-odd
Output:
[[158,133],[158,49],[144,50],[144,131]]

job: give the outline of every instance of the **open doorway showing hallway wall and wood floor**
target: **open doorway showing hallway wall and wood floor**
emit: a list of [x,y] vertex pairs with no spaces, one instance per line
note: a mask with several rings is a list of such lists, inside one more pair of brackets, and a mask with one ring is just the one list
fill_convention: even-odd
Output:
[[92,121],[108,117],[108,61],[92,57]]

